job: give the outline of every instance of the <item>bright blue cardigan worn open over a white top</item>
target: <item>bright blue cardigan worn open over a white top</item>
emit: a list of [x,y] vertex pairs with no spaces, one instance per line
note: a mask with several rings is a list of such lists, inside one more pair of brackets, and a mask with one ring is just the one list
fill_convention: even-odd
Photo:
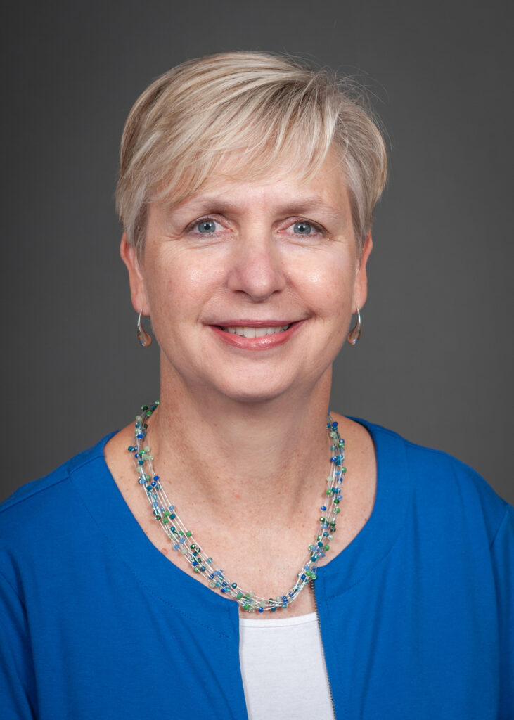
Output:
[[[375,507],[315,582],[336,717],[512,719],[513,508],[450,456],[363,424]],[[150,543],[107,439],[1,505],[0,715],[245,719],[238,606]]]

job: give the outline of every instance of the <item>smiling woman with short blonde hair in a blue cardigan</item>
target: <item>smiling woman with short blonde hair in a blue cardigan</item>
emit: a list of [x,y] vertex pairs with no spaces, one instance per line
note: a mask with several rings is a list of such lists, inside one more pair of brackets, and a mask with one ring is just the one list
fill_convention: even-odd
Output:
[[385,175],[348,87],[284,58],[137,100],[121,255],[161,402],[3,506],[9,718],[512,716],[512,508],[327,416]]

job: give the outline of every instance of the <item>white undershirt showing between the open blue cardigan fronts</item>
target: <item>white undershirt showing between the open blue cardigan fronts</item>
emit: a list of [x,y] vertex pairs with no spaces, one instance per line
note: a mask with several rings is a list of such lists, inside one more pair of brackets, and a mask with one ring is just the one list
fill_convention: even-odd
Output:
[[250,720],[333,720],[316,613],[240,618],[239,657]]

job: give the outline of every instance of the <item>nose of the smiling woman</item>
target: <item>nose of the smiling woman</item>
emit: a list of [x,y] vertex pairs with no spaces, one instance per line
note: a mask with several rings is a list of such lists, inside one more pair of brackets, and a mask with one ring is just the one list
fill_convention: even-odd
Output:
[[269,230],[252,228],[241,233],[230,258],[227,284],[254,302],[263,302],[286,287],[283,258]]

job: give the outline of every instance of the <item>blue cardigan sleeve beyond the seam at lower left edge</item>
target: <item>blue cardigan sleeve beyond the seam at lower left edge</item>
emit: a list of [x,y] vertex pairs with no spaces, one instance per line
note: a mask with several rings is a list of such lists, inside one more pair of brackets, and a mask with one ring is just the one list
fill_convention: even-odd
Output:
[[24,608],[0,575],[0,706],[3,720],[34,720],[35,679]]

